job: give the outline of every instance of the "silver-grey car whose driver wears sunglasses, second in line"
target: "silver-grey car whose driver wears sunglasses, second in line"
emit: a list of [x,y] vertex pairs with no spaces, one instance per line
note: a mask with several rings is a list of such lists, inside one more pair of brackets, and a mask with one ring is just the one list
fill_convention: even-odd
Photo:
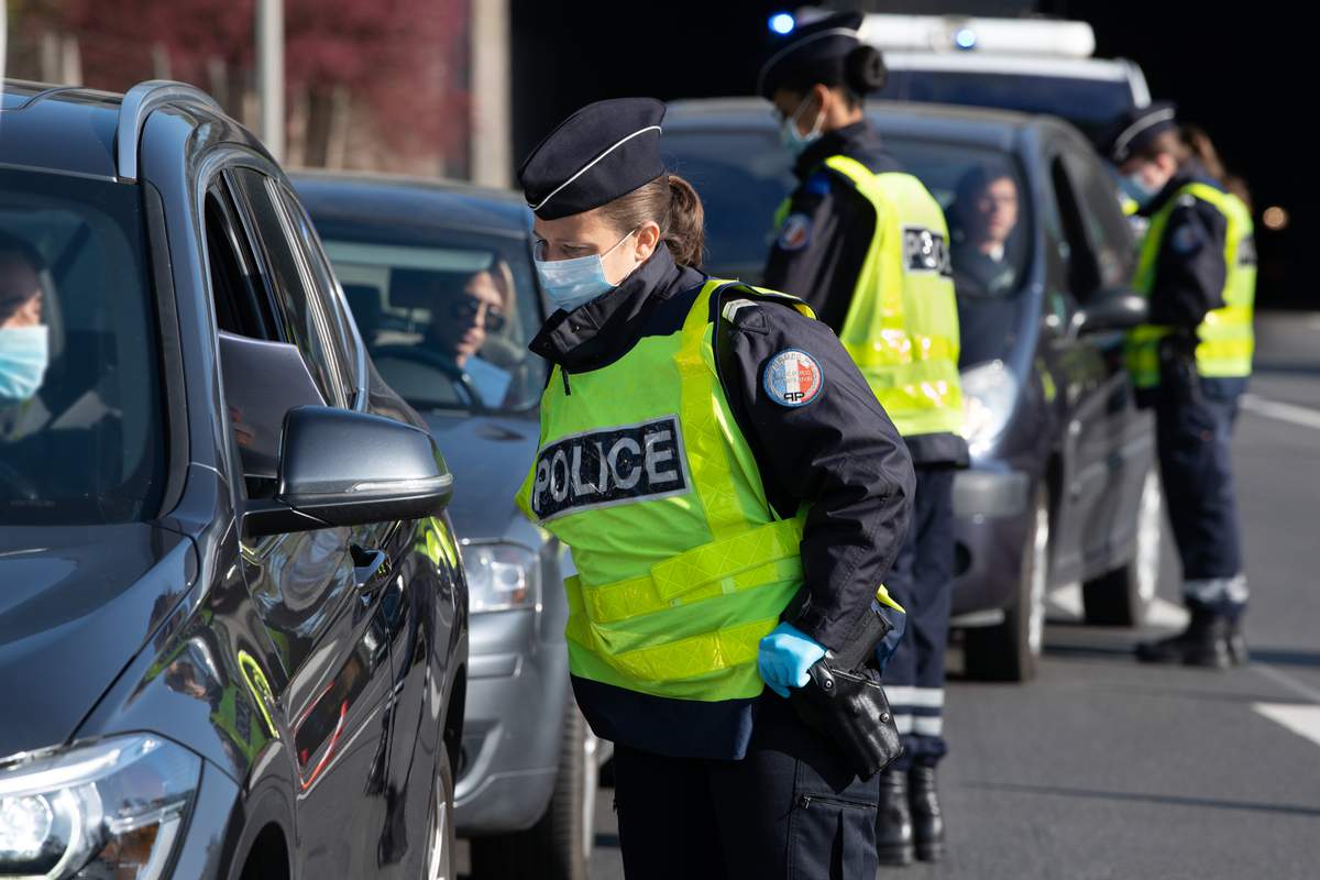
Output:
[[294,185],[372,361],[455,475],[450,515],[471,596],[455,809],[473,875],[583,877],[609,747],[569,686],[568,550],[513,504],[546,376],[527,351],[544,317],[532,215],[512,194],[455,183],[315,174]]

